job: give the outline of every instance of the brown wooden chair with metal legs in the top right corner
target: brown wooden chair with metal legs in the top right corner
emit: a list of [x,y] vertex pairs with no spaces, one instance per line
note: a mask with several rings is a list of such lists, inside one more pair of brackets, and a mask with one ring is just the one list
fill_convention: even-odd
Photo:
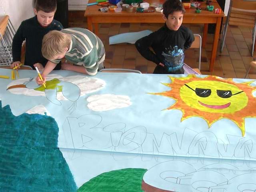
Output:
[[228,25],[247,26],[253,28],[252,33],[252,56],[256,37],[256,1],[230,0],[230,6],[226,23],[222,31],[220,52],[222,52]]

